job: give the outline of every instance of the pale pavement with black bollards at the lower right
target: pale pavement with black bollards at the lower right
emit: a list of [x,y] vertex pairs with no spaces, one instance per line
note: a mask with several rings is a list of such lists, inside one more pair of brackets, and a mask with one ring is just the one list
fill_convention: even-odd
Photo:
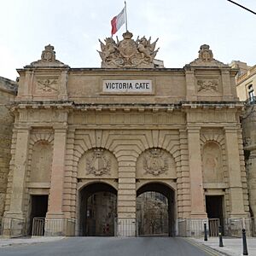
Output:
[[[218,246],[218,237],[208,237],[208,241],[204,241],[204,237],[201,238],[188,238],[192,243],[195,243],[201,247],[210,247],[220,255],[240,256],[243,255],[241,238],[223,237],[224,247]],[[256,255],[256,237],[247,237],[247,255]]]

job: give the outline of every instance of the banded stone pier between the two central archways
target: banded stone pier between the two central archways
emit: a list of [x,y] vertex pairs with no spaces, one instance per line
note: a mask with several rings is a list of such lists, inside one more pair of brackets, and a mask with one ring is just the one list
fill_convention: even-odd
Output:
[[136,236],[136,159],[119,158],[117,236]]

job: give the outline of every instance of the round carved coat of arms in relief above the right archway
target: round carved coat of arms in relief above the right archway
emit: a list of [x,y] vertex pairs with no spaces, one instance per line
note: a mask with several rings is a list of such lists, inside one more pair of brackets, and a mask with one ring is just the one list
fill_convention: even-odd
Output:
[[158,176],[168,170],[168,160],[159,148],[152,148],[143,158],[145,173]]

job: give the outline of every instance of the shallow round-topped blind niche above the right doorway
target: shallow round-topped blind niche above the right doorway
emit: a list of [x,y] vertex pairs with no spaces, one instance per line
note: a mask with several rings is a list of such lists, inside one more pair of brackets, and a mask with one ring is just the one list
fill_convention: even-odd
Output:
[[221,149],[218,143],[206,143],[202,149],[203,179],[205,183],[224,182]]

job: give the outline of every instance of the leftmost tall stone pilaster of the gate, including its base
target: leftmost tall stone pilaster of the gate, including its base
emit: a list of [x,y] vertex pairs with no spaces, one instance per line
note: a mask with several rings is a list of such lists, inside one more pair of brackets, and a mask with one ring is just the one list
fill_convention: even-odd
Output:
[[18,128],[10,207],[9,212],[5,212],[4,214],[4,235],[9,235],[10,231],[13,235],[14,232],[15,235],[22,235],[24,228],[25,216],[23,212],[23,204],[29,137],[30,128]]

